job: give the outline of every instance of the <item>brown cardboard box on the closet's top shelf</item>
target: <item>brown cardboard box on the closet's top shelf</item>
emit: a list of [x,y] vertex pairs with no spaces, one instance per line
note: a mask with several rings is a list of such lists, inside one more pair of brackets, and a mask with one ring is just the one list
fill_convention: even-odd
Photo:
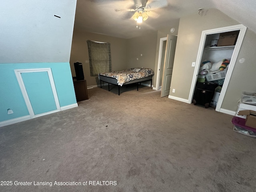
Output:
[[236,44],[236,40],[238,38],[239,31],[231,31],[221,33],[217,46],[232,46]]

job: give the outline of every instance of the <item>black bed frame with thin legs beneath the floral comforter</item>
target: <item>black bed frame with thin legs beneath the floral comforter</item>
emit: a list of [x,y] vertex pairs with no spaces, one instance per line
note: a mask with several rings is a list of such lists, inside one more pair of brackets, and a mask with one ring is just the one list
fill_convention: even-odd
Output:
[[[101,85],[102,81],[108,83],[108,91],[110,91],[109,84],[118,86],[118,95],[120,95],[120,87],[121,86],[118,85],[116,78],[100,75],[100,88],[102,88],[102,85]],[[152,87],[152,75],[148,76],[148,77],[141,78],[141,79],[135,79],[135,80],[126,82],[123,85],[136,83],[137,84],[137,91],[138,91],[139,90],[138,83],[141,84],[141,82],[144,82],[144,81],[151,81],[150,87]]]

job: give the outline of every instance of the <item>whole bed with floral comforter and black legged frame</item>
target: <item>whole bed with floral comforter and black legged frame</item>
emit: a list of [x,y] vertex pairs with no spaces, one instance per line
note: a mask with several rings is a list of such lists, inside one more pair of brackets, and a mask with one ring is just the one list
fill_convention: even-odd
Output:
[[100,88],[102,88],[102,81],[109,84],[118,86],[118,95],[120,95],[120,87],[127,84],[136,83],[137,91],[138,84],[144,81],[151,81],[150,87],[152,87],[152,76],[154,71],[150,68],[130,68],[122,71],[104,72],[98,74],[100,80]]

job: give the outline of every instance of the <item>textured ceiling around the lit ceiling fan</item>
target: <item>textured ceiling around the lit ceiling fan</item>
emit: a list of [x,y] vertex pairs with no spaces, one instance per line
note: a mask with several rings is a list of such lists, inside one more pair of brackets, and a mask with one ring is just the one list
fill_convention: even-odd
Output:
[[[179,18],[216,8],[256,32],[255,0],[148,0],[148,20],[136,28],[132,19],[141,0],[77,0],[74,28],[119,38],[133,38],[148,30],[177,25]],[[142,0],[145,1],[145,0]],[[171,28],[171,26],[170,26]]]

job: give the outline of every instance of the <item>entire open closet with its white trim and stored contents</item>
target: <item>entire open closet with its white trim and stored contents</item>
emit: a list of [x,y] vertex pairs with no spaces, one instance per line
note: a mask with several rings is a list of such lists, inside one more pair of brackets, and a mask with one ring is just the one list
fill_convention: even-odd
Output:
[[246,27],[242,24],[202,31],[188,99],[190,103],[206,108],[212,106],[218,112],[233,115],[221,106],[245,32]]

